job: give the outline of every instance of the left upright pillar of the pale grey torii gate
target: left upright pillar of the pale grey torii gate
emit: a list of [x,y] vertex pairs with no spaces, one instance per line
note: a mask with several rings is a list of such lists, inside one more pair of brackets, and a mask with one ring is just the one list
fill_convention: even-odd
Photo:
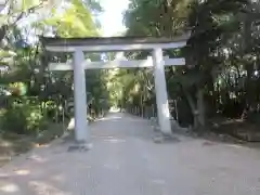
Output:
[[74,52],[74,104],[75,104],[75,135],[80,144],[90,144],[87,120],[86,76],[83,67],[84,55],[81,50]]

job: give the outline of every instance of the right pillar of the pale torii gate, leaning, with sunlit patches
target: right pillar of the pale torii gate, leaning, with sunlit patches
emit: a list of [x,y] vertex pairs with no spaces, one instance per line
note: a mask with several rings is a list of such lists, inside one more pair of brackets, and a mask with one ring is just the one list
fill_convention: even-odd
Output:
[[153,50],[153,63],[159,127],[162,134],[170,135],[171,134],[170,110],[165,77],[165,63],[161,48],[155,48]]

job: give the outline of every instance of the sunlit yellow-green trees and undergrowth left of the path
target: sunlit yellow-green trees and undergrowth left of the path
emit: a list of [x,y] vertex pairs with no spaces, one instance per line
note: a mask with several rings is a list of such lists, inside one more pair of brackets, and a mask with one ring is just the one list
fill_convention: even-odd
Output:
[[[51,60],[62,62],[69,55],[48,53],[40,37],[101,36],[96,16],[102,8],[95,1],[21,2],[8,1],[0,14],[1,154],[5,151],[4,141],[10,139],[17,140],[14,150],[21,151],[30,147],[26,145],[28,140],[47,143],[62,135],[74,117],[73,73],[48,68]],[[86,57],[101,58],[98,54]],[[86,74],[89,120],[92,120],[108,108],[104,80],[107,73]]]

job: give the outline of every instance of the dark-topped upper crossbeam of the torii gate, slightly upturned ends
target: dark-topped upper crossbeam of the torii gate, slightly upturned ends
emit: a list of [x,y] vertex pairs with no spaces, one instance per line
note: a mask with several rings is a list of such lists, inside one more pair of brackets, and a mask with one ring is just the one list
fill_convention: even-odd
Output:
[[190,32],[172,38],[156,37],[91,37],[91,38],[48,38],[41,41],[48,51],[74,52],[76,49],[87,52],[174,49],[186,44]]

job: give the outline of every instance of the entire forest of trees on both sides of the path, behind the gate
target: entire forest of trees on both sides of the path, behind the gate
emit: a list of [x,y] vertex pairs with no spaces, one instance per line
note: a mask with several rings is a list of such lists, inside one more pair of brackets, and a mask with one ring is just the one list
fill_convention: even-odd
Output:
[[[0,14],[0,125],[2,133],[39,134],[52,122],[73,116],[68,106],[73,73],[48,69],[48,62],[72,56],[46,52],[39,37],[102,36],[98,16],[103,9],[94,0],[22,2],[10,0]],[[191,31],[185,48],[165,51],[170,57],[186,60],[185,66],[165,69],[171,114],[180,126],[209,130],[213,122],[233,119],[257,129],[259,8],[257,0],[130,0],[123,13],[123,36],[173,37]],[[126,53],[129,60],[147,55],[151,53]],[[101,60],[102,55],[87,57]],[[112,105],[129,112],[134,108],[142,116],[156,115],[153,69],[86,74],[91,118]]]

